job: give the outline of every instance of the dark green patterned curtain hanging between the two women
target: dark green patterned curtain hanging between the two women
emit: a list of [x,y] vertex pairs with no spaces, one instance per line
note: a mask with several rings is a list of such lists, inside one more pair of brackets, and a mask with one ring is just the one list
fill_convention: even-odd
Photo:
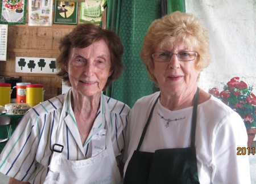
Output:
[[[170,2],[167,0],[168,12],[169,7],[176,7]],[[122,57],[125,70],[121,78],[108,87],[106,95],[133,107],[139,98],[159,90],[148,78],[140,52],[148,26],[161,18],[161,0],[108,0],[107,3],[106,27],[121,38],[125,48]]]

